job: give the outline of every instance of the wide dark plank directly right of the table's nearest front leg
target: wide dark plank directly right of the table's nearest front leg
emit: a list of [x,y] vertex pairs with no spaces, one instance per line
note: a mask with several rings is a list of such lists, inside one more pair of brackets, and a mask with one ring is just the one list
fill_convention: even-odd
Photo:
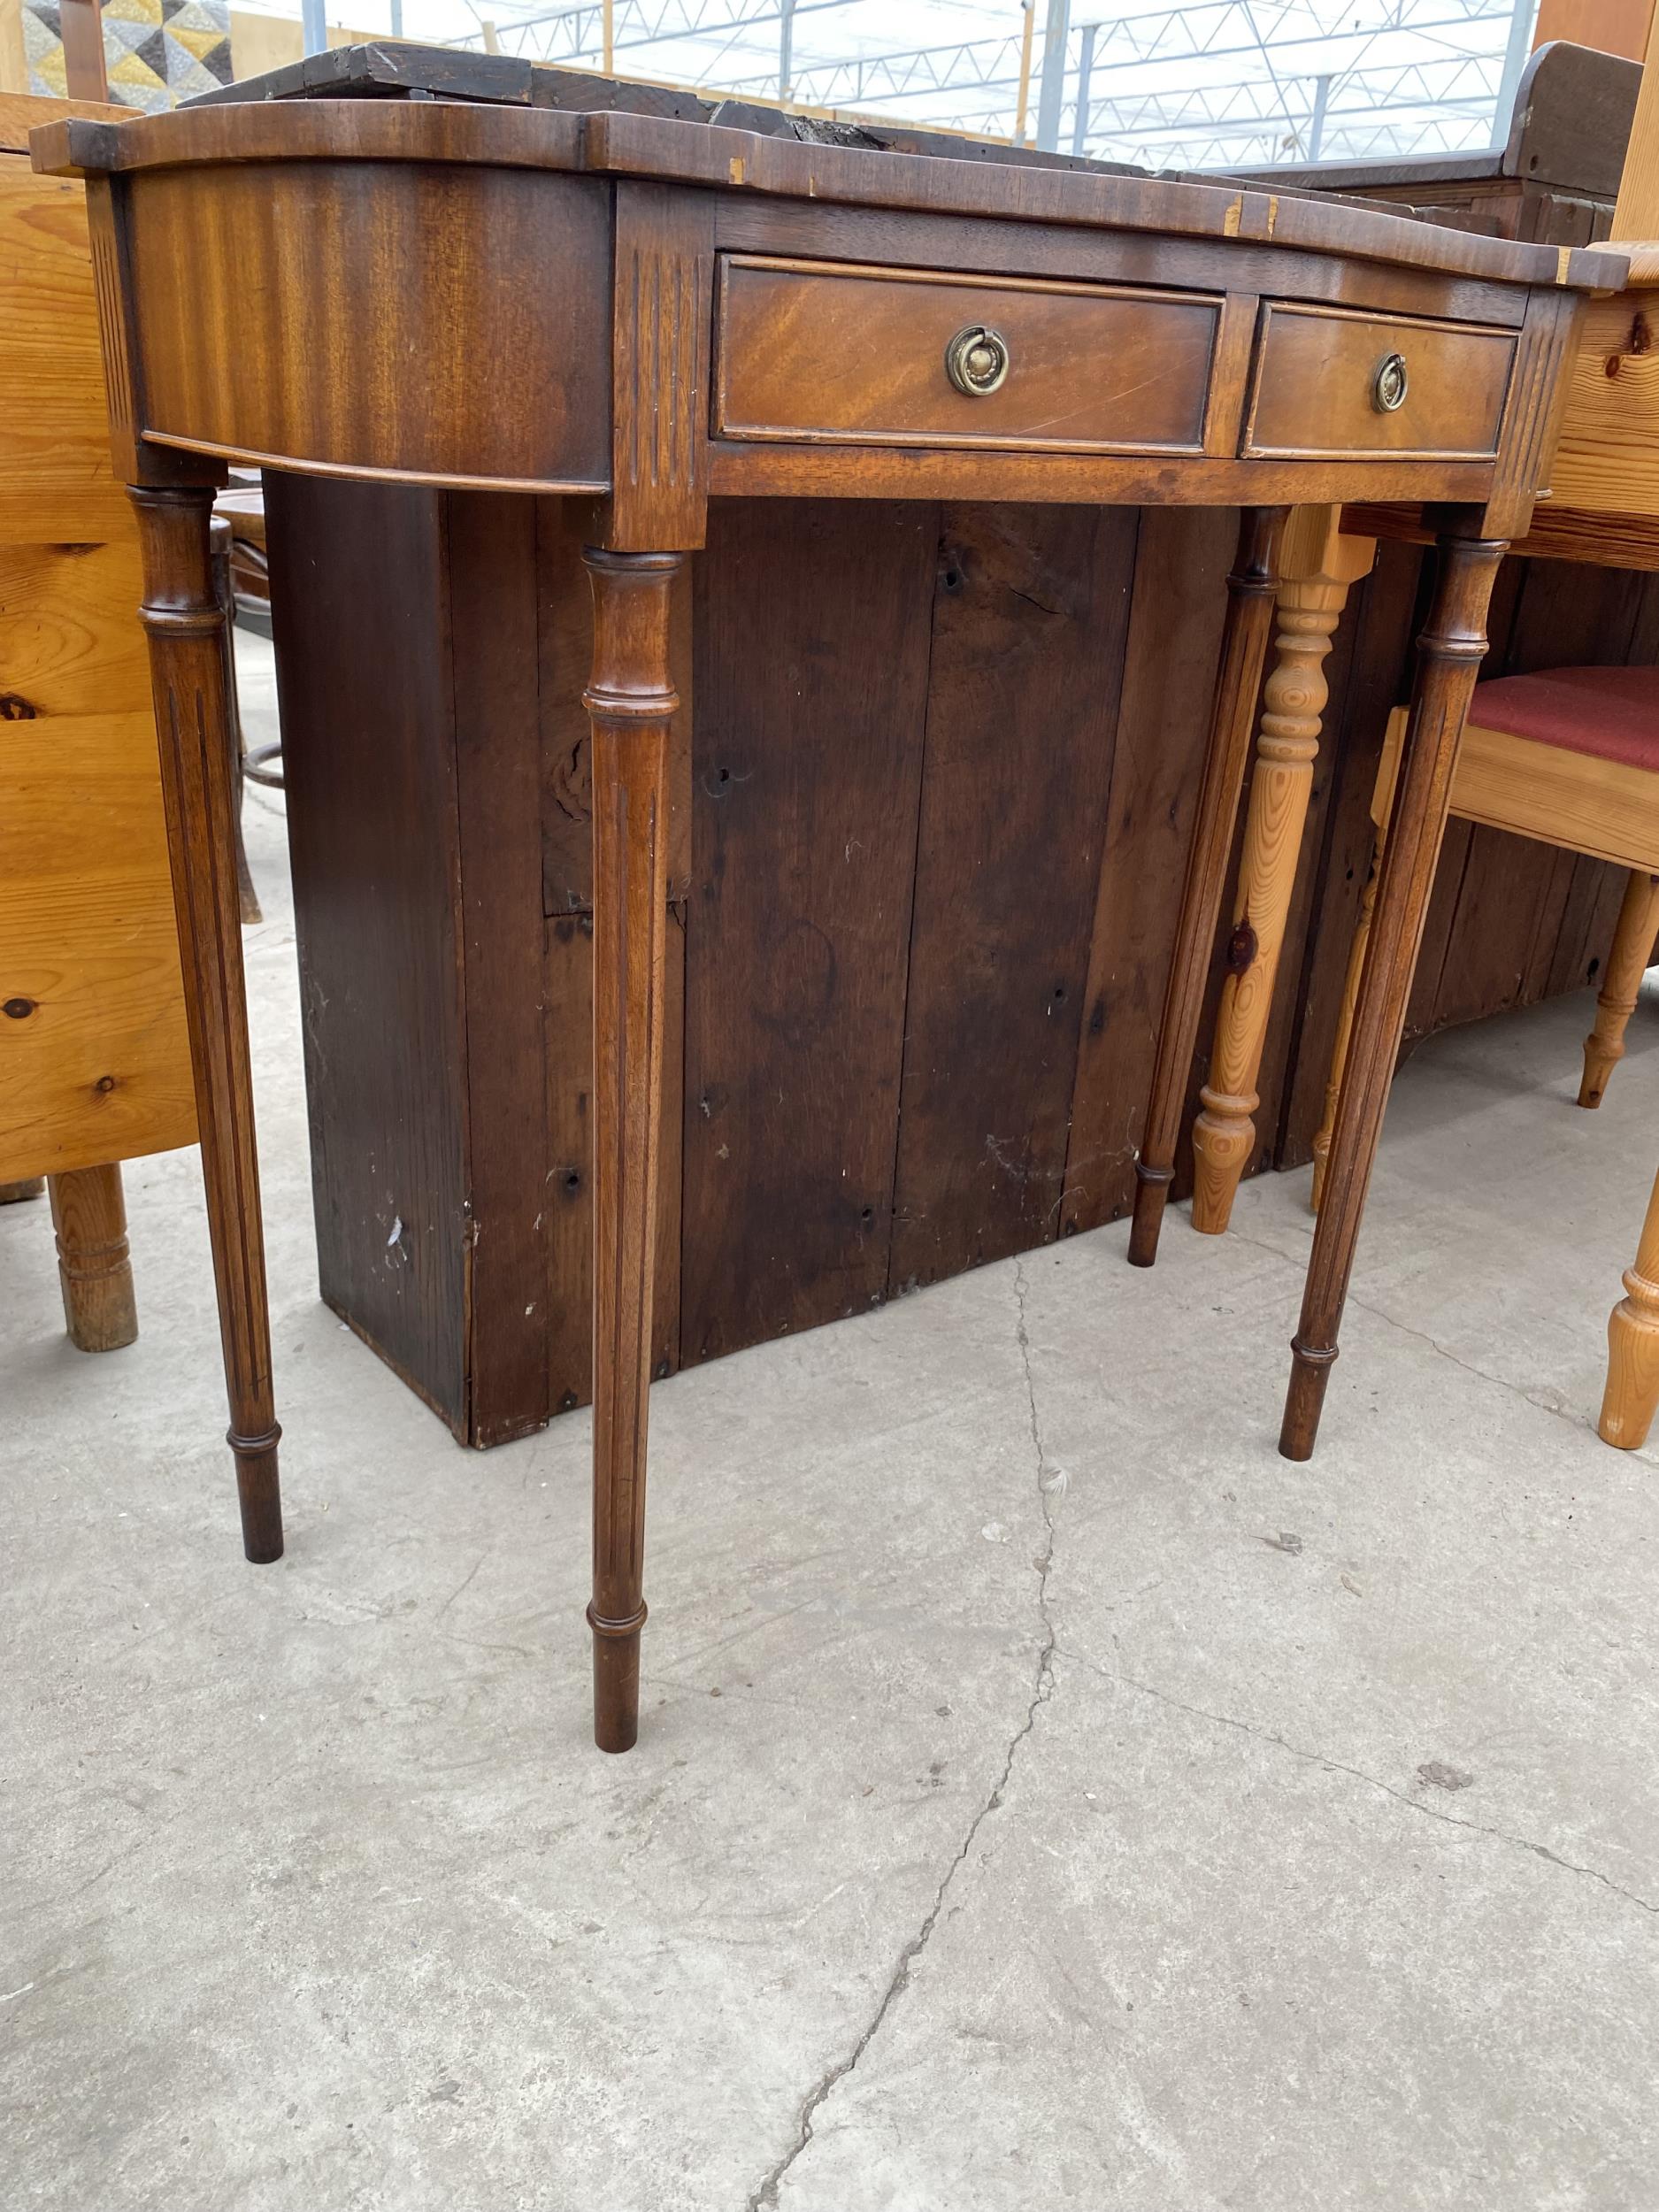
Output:
[[885,1294],[929,504],[714,502],[697,564],[681,1354]]

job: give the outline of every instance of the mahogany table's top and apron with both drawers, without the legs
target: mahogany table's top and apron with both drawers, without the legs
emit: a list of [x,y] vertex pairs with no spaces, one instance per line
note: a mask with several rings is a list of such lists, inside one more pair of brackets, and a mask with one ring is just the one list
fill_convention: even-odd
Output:
[[[60,122],[164,456],[593,493],[1531,511],[1617,254],[677,115],[310,97]],[[188,252],[179,250],[188,241]]]

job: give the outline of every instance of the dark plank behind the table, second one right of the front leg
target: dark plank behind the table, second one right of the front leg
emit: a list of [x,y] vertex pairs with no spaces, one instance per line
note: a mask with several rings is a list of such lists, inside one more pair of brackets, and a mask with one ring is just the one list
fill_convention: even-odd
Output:
[[942,518],[894,1292],[1060,1230],[1137,520]]

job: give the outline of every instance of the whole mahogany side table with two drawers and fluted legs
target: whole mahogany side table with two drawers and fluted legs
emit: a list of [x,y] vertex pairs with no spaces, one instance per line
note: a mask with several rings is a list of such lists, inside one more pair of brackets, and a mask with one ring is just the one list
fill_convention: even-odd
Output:
[[646,1619],[668,588],[710,495],[1243,507],[1139,1263],[1172,1172],[1285,509],[1431,502],[1440,582],[1292,1374],[1287,1420],[1312,1440],[1491,577],[1551,456],[1584,292],[1621,270],[1267,190],[646,115],[319,100],[33,144],[40,168],[86,177],[117,469],[144,538],[248,1557],[279,1555],[281,1511],[208,571],[228,462],[593,504],[588,1621],[613,1752],[635,1741]]

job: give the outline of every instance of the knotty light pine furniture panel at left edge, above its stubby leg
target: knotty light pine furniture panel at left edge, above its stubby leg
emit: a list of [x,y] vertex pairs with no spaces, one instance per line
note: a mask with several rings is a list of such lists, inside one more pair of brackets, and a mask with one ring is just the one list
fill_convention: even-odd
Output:
[[[0,144],[73,113],[0,102]],[[0,153],[0,1177],[195,1141],[84,192]]]

